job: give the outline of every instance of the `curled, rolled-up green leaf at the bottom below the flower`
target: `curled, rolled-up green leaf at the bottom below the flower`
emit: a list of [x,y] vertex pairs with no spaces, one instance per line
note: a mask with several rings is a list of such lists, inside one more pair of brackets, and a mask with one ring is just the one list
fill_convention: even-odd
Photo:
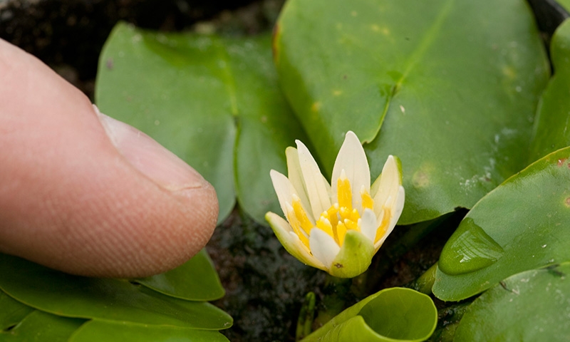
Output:
[[429,296],[390,288],[351,306],[302,341],[425,341],[437,324]]

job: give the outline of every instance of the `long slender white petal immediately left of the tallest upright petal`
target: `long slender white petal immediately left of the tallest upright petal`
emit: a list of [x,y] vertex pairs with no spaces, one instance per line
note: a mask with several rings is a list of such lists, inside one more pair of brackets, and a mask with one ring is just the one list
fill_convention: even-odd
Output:
[[314,160],[309,149],[296,140],[297,152],[299,153],[299,165],[303,173],[304,184],[307,190],[307,197],[311,203],[311,211],[313,217],[321,217],[322,212],[331,207],[330,192],[328,192],[328,182],[318,169],[318,165]]

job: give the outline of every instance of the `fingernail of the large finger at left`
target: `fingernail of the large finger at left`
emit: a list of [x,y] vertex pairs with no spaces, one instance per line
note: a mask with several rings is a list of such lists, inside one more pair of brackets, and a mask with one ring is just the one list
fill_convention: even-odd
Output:
[[171,192],[207,185],[202,175],[154,139],[93,107],[120,154],[158,185]]

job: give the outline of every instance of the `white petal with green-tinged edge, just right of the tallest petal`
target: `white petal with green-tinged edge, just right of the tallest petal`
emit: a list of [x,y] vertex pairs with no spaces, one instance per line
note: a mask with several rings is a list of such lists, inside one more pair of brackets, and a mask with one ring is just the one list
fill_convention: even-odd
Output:
[[[398,163],[392,155],[388,156],[379,178],[380,180],[374,182],[379,182],[378,190],[375,194],[371,194],[374,199],[374,212],[376,213],[380,212],[382,207],[393,207],[402,185]],[[374,187],[376,187],[375,184]]]

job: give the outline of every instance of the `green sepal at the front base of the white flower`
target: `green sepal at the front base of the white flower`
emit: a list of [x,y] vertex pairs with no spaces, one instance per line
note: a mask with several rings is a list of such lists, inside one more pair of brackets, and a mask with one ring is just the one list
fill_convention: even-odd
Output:
[[338,278],[353,278],[368,269],[373,256],[374,244],[371,240],[361,232],[349,230],[328,273]]

